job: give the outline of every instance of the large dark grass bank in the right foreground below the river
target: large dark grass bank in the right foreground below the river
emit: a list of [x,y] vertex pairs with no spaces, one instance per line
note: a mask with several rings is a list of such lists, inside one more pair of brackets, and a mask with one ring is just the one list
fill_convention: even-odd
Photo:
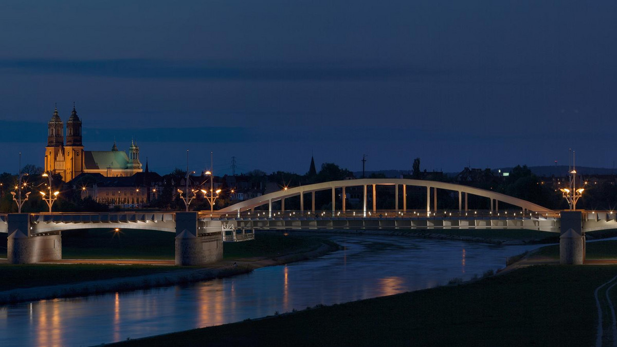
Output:
[[172,333],[118,346],[590,346],[617,266],[536,266],[471,284]]

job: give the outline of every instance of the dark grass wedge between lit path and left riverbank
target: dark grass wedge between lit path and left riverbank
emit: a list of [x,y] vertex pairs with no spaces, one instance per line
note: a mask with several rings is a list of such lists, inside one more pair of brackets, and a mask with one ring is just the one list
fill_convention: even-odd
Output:
[[72,284],[186,269],[178,266],[108,264],[0,264],[0,291]]

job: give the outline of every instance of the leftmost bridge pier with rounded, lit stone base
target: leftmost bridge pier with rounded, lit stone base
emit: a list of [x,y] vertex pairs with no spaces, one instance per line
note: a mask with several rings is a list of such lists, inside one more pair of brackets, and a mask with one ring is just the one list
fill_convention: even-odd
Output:
[[11,264],[31,264],[62,259],[60,232],[31,234],[30,214],[7,215],[7,259]]

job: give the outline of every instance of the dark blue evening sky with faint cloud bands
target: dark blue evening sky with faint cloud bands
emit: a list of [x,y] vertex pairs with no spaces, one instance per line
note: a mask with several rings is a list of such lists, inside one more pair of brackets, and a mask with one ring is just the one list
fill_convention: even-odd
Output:
[[[86,150],[167,173],[616,160],[615,1],[2,1],[0,171]],[[145,160],[143,160],[145,161]]]

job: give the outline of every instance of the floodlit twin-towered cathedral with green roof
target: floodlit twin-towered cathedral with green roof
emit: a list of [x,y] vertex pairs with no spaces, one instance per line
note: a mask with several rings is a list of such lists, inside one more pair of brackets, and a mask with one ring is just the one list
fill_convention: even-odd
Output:
[[54,109],[48,123],[47,147],[45,147],[45,171],[62,175],[65,182],[81,173],[100,173],[106,177],[133,176],[141,173],[139,147],[131,141],[129,154],[118,150],[115,141],[112,150],[83,150],[81,120],[75,105],[67,120],[67,141],[64,142],[64,124]]

